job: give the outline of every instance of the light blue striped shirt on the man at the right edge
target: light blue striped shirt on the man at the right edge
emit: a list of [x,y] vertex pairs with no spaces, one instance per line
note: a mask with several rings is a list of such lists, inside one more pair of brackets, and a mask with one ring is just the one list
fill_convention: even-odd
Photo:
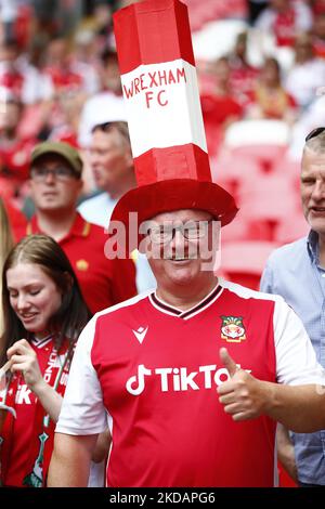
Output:
[[[320,364],[325,367],[325,270],[318,263],[318,236],[311,231],[269,258],[261,290],[281,295],[302,319]],[[299,481],[325,485],[325,430],[292,433]]]

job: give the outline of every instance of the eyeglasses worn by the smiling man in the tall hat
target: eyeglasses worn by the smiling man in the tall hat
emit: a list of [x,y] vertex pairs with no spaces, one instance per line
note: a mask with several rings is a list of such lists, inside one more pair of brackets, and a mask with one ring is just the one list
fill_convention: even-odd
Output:
[[181,232],[186,240],[199,240],[204,238],[208,233],[209,221],[187,221],[184,224],[174,226],[172,224],[161,224],[159,226],[153,226],[147,230],[147,235],[153,244],[168,244],[170,243],[176,232]]

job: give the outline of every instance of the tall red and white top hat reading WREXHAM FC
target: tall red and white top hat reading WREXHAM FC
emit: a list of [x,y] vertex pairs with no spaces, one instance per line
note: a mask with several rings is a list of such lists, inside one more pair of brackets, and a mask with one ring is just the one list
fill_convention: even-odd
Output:
[[230,223],[238,209],[211,181],[186,5],[133,3],[115,13],[114,28],[138,187],[110,220],[129,227],[129,212],[140,224],[160,212],[202,209]]

